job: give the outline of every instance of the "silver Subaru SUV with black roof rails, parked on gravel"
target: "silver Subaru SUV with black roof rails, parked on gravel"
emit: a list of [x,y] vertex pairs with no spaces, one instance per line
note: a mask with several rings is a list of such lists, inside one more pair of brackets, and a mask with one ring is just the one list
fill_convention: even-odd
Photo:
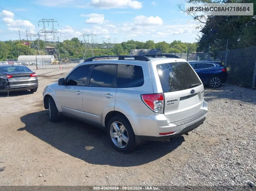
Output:
[[63,115],[99,126],[121,152],[181,136],[204,122],[204,85],[186,60],[115,57],[87,59],[47,85],[43,104],[50,121]]

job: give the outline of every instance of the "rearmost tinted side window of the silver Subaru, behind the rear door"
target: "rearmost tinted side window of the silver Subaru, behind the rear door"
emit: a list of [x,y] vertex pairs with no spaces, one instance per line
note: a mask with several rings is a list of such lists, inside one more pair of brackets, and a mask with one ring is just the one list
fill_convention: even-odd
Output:
[[144,84],[141,66],[118,64],[117,88],[134,88]]

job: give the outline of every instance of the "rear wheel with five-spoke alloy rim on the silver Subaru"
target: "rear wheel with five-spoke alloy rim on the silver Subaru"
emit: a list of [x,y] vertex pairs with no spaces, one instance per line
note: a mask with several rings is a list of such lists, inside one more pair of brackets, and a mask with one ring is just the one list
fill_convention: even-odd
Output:
[[120,152],[128,153],[135,149],[135,135],[127,119],[123,116],[112,117],[107,125],[108,139]]

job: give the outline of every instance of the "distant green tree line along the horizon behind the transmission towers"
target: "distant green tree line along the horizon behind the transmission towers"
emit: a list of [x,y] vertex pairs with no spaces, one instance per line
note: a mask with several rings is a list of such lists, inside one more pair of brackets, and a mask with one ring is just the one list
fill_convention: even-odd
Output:
[[[26,41],[27,40],[25,39],[22,40],[22,42]],[[29,45],[20,43],[20,40],[0,41],[0,61],[17,59],[20,55],[44,55],[44,46],[51,44],[51,42],[47,42],[44,45],[42,40],[35,40],[33,43],[38,43],[38,46],[40,47],[39,52],[35,48],[31,47],[31,41],[29,41]],[[64,40],[63,42],[57,43],[57,47],[60,58],[84,57],[85,43],[81,42],[76,37],[71,40]],[[162,53],[191,53],[196,52],[197,43],[186,43],[181,42],[180,40],[174,40],[171,43],[167,43],[165,41],[155,43],[153,40],[148,40],[146,42],[128,40],[117,44],[92,44],[92,49],[95,56],[129,55],[131,49],[161,49]]]

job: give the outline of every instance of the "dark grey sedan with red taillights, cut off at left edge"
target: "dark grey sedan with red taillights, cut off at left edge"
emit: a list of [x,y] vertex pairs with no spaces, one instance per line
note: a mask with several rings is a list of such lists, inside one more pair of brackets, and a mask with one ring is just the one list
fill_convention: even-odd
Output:
[[36,92],[35,72],[23,65],[0,65],[0,92],[30,90]]

